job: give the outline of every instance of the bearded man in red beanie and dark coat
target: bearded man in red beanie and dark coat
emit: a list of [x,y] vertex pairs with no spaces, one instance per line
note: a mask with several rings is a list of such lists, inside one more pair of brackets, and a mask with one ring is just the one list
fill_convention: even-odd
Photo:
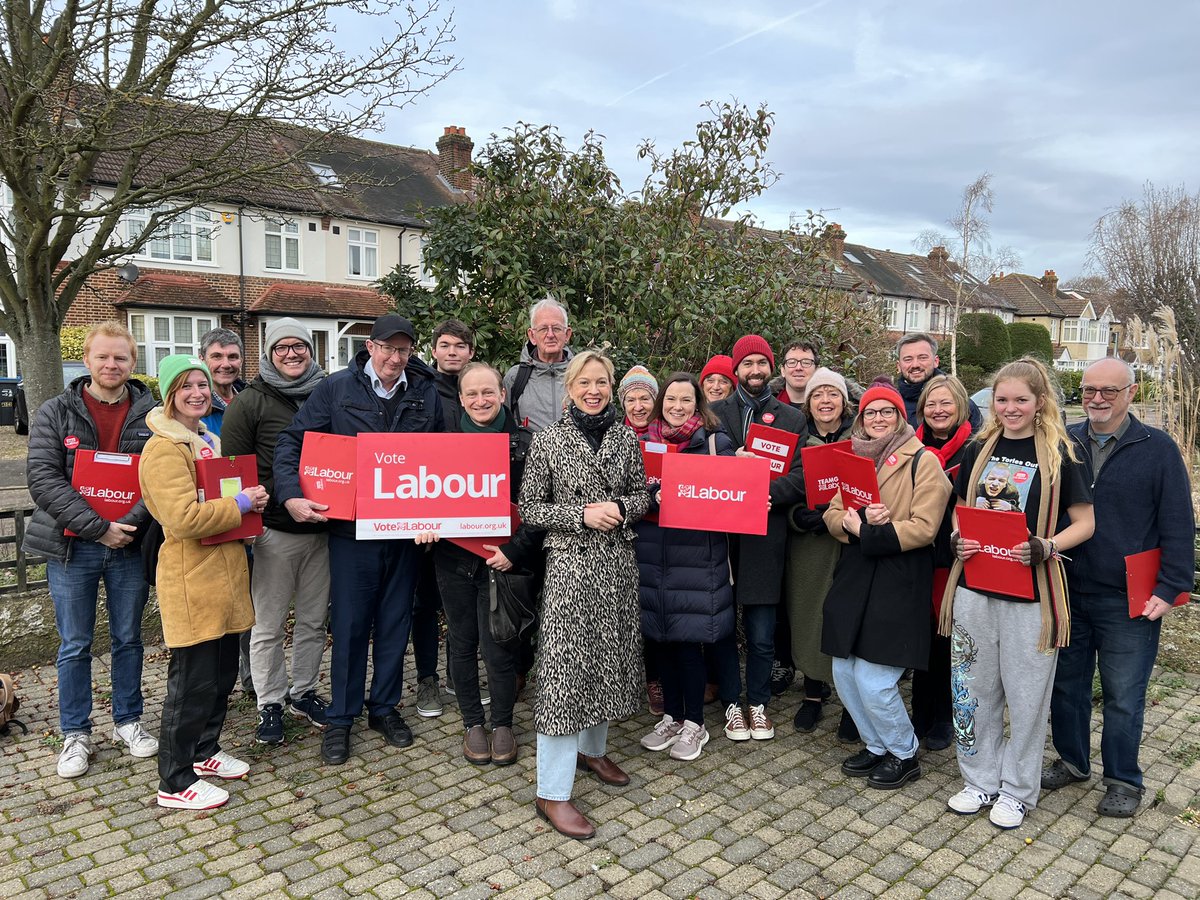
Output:
[[[742,607],[746,636],[746,702],[742,708],[742,677],[738,650],[731,636],[716,644],[719,694],[725,706],[725,734],[731,740],[768,740],[775,726],[767,716],[770,700],[770,670],[775,658],[776,607],[784,592],[784,556],[787,545],[787,510],[804,499],[800,448],[809,436],[804,413],[781,402],[770,392],[775,354],[758,335],[746,335],[733,344],[733,372],[738,385],[733,394],[713,404],[721,426],[738,448],[738,456],[754,456],[745,449],[746,431],[752,424],[790,431],[798,436],[787,473],[770,482],[770,512],[767,534],[737,535],[731,540],[736,565],[734,592]],[[731,535],[732,538],[732,535]],[[749,721],[748,721],[749,719]]]

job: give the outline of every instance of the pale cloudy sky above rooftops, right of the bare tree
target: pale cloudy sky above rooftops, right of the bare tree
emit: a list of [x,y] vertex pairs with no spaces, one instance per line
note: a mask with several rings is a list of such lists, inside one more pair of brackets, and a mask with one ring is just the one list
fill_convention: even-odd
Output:
[[[451,8],[449,0],[446,8]],[[982,11],[978,7],[998,7]],[[461,71],[384,139],[481,148],[516,121],[606,137],[626,188],[641,139],[676,145],[706,100],[775,113],[766,226],[822,210],[847,240],[913,252],[994,175],[992,242],[1021,271],[1086,270],[1092,224],[1144,181],[1196,186],[1200,4],[1188,0],[548,0],[452,4]]]

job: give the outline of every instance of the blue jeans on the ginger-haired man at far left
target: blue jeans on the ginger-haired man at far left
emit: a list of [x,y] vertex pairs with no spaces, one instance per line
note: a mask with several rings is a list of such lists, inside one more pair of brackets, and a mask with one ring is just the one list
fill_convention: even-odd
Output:
[[91,641],[96,598],[104,581],[104,606],[113,643],[113,721],[142,718],[142,612],[150,588],[142,577],[142,554],[109,550],[96,541],[72,542],[66,563],[50,559],[46,578],[59,629],[59,725],[64,734],[91,733]]

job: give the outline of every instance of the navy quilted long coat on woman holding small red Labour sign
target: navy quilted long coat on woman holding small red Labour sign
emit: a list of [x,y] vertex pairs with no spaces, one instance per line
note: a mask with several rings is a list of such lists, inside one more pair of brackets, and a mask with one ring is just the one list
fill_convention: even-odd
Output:
[[[733,442],[727,434],[719,431],[714,438],[718,456],[733,456]],[[708,451],[703,428],[679,450]],[[642,635],[652,641],[715,643],[733,634],[728,538],[720,532],[661,528],[644,518],[634,530]]]

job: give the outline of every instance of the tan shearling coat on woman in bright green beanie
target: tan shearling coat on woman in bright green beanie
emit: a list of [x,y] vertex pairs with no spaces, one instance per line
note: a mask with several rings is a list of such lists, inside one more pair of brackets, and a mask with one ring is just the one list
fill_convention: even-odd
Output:
[[[250,571],[241,541],[204,546],[200,538],[221,534],[241,521],[238,500],[200,503],[196,493],[196,455],[204,440],[162,407],[146,415],[154,437],[142,451],[139,480],[150,514],[162,524],[157,593],[168,647],[193,647],[254,624]],[[200,428],[204,428],[203,422]],[[215,454],[221,444],[214,437]]]

